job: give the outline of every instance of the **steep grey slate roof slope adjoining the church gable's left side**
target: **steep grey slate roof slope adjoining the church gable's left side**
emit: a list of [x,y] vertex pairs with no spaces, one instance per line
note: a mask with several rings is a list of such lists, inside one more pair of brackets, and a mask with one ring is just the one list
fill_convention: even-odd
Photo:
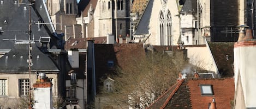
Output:
[[140,21],[138,23],[138,26],[137,26],[137,29],[136,29],[134,35],[148,34],[148,29],[149,29],[148,26],[150,24],[153,2],[154,2],[154,0],[148,1],[146,9],[145,9],[142,17],[140,18]]

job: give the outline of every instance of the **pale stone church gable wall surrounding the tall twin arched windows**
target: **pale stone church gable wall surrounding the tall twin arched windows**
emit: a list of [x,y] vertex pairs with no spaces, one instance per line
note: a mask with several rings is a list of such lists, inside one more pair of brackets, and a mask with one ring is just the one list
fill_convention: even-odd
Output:
[[160,34],[159,34],[159,14],[160,10],[163,11],[164,17],[167,15],[167,10],[171,13],[172,18],[172,37],[173,44],[177,45],[178,37],[180,36],[180,18],[178,17],[178,7],[176,1],[167,1],[166,7],[163,8],[161,1],[154,1],[152,7],[152,13],[150,17],[149,33],[151,36],[146,43],[152,45],[160,45]]

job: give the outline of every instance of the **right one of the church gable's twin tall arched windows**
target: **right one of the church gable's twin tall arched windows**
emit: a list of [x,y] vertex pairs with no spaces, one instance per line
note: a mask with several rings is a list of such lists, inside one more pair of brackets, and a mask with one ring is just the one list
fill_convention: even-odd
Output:
[[171,13],[168,12],[168,15],[166,16],[166,28],[167,28],[167,45],[170,46],[171,44],[171,31],[172,31],[172,24],[171,24]]

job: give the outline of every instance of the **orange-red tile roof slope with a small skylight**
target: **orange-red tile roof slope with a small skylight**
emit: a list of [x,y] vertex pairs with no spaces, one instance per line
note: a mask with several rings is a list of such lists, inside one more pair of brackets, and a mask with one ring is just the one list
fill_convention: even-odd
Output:
[[[214,95],[201,95],[201,89],[199,86],[201,84],[212,85]],[[234,100],[235,94],[235,84],[233,78],[189,80],[187,85],[191,93],[190,100],[192,108],[208,108],[209,102],[212,101],[212,98],[215,98],[216,107],[218,109],[231,108],[230,101]]]

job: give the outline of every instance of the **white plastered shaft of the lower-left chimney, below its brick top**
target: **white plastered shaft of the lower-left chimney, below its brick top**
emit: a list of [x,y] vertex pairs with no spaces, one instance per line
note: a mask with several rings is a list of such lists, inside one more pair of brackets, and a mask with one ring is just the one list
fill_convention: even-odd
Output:
[[36,88],[34,90],[35,109],[52,109],[52,88]]

